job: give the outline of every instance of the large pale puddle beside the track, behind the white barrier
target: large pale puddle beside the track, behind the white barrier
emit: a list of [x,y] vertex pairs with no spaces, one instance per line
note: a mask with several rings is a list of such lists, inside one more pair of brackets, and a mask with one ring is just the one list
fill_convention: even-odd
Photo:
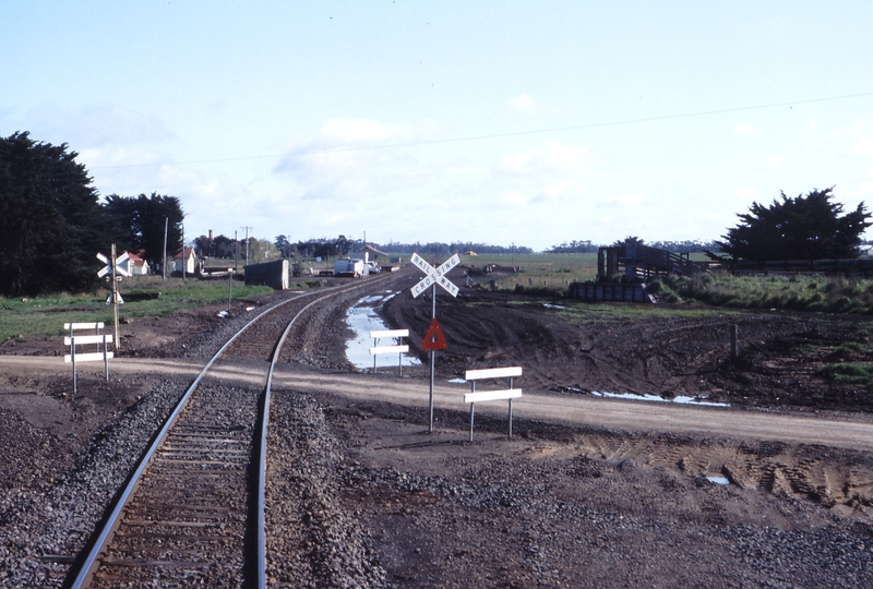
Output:
[[[371,297],[363,297],[357,303],[351,305],[346,312],[346,325],[355,332],[355,337],[346,341],[346,358],[355,364],[359,370],[371,370],[373,368],[373,356],[370,353],[370,348],[373,347],[373,338],[370,337],[370,332],[386,330],[382,317],[375,312],[376,303],[384,302],[397,293],[391,290],[386,294],[373,294]],[[380,346],[395,346],[398,342],[392,338],[380,338]],[[393,353],[376,354],[376,369],[392,368],[395,369],[400,363],[397,356]],[[421,362],[418,358],[409,354],[403,356],[403,365],[412,366]]]

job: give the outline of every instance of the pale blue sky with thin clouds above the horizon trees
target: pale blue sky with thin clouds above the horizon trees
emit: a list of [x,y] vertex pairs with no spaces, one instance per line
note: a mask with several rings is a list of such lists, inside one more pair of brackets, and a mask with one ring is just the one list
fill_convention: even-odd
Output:
[[[189,236],[717,239],[873,206],[873,3],[0,3],[0,135]],[[870,237],[870,236],[869,236]]]

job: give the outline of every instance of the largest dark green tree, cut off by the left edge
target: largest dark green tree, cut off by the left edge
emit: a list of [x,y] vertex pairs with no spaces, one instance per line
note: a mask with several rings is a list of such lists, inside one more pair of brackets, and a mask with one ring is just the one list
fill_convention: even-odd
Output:
[[107,219],[65,143],[0,137],[0,292],[84,291],[97,280]]

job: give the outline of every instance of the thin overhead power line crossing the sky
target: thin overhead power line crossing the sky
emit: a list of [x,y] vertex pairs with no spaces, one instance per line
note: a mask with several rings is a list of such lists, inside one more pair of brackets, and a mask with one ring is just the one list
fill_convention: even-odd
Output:
[[393,149],[396,147],[415,147],[419,145],[439,145],[443,143],[461,143],[465,141],[485,141],[485,140],[492,140],[492,139],[504,139],[504,137],[517,137],[524,135],[537,135],[542,133],[558,133],[564,131],[578,131],[583,129],[598,129],[602,127],[618,127],[622,124],[637,124],[637,123],[647,123],[647,122],[656,122],[656,121],[669,121],[672,119],[687,119],[692,117],[709,117],[713,115],[725,115],[728,112],[743,112],[748,110],[763,110],[767,108],[779,108],[779,107],[787,107],[787,106],[794,106],[794,105],[809,105],[813,103],[826,103],[830,100],[847,100],[850,98],[861,98],[864,96],[873,96],[873,92],[865,92],[862,94],[847,94],[844,96],[828,96],[824,98],[810,98],[808,100],[791,100],[788,103],[770,103],[766,105],[756,105],[756,106],[745,106],[745,107],[734,107],[734,108],[723,108],[718,110],[702,110],[697,112],[685,112],[682,115],[662,115],[659,117],[645,117],[641,119],[624,119],[619,121],[608,121],[608,122],[599,122],[599,123],[586,123],[586,124],[575,124],[575,125],[567,125],[567,127],[554,127],[550,129],[535,129],[530,131],[513,131],[509,133],[492,133],[488,135],[469,135],[464,137],[450,137],[450,139],[442,139],[442,140],[424,140],[424,141],[412,141],[407,143],[387,143],[387,144],[380,144],[380,145],[359,145],[359,146],[351,146],[351,147],[332,147],[327,148],[324,147],[322,149],[314,149],[314,151],[307,151],[307,152],[290,152],[286,154],[273,154],[273,155],[261,155],[261,156],[240,156],[240,157],[225,157],[225,158],[216,158],[216,159],[192,159],[188,161],[172,161],[172,163],[164,163],[164,164],[123,164],[119,166],[94,166],[91,169],[99,170],[99,169],[116,169],[116,168],[145,168],[145,167],[153,167],[153,166],[181,166],[186,164],[217,164],[224,161],[246,161],[252,159],[272,159],[272,158],[279,158],[279,157],[301,157],[308,155],[319,155],[319,154],[339,154],[346,152],[364,152],[371,149]]

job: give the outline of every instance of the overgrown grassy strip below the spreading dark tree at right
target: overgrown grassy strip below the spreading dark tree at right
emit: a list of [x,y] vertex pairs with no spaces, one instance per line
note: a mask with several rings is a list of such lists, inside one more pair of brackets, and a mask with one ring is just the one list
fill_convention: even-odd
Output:
[[654,280],[648,291],[665,302],[695,300],[734,309],[873,314],[873,280],[869,279],[707,274]]

